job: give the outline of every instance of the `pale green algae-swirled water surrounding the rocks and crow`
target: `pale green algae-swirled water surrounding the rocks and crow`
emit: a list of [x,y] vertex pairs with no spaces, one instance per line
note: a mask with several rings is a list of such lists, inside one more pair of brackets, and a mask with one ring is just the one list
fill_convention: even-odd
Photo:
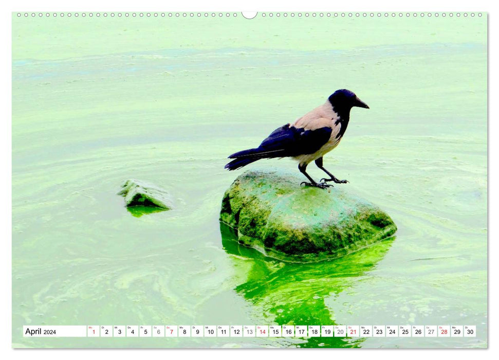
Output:
[[[487,20],[12,16],[14,347],[487,347]],[[218,222],[257,146],[339,88],[324,166],[395,237],[319,264]],[[297,171],[290,159],[259,168]],[[251,169],[253,165],[248,166]],[[309,167],[311,176],[323,173]],[[175,208],[127,210],[137,178]],[[297,184],[298,186],[298,184]],[[476,325],[476,337],[28,338],[23,325]]]

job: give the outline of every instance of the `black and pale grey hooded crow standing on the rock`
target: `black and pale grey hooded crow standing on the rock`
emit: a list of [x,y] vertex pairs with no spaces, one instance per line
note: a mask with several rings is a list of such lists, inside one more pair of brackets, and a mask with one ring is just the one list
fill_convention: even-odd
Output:
[[[348,126],[350,109],[354,106],[369,109],[369,106],[353,92],[346,89],[337,90],[321,106],[293,123],[275,129],[259,147],[230,155],[229,158],[234,160],[225,168],[236,170],[256,160],[289,156],[298,160],[298,169],[310,181],[310,183],[301,184],[321,189],[332,186],[326,183],[329,181],[345,184],[346,180],[337,179],[323,167],[322,157],[340,143]],[[315,161],[317,167],[323,170],[329,178],[322,178],[319,183],[315,182],[305,171],[312,161]]]

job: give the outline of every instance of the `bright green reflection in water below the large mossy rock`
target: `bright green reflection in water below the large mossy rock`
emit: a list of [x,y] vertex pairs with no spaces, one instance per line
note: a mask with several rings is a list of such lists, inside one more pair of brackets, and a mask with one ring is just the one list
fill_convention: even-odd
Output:
[[[289,263],[266,257],[241,245],[231,227],[220,223],[222,244],[238,262],[253,262],[246,282],[237,293],[251,302],[255,312],[278,325],[338,325],[335,309],[325,299],[351,288],[373,269],[392,246],[394,237],[345,257],[318,263]],[[346,325],[340,324],[339,325]],[[361,347],[363,338],[308,337],[299,347]]]

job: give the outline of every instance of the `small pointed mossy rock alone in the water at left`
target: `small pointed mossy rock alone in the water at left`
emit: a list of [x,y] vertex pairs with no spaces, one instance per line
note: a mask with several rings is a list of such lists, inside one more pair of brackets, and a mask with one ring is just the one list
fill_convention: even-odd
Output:
[[173,208],[173,200],[166,190],[140,180],[125,181],[118,195],[125,197],[127,207],[154,207],[163,210]]

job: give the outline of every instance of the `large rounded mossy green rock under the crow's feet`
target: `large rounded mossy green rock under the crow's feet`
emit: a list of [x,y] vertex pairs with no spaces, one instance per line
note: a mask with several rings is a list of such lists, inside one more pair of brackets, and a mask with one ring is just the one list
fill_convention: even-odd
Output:
[[296,174],[247,171],[225,192],[220,221],[239,243],[286,261],[321,261],[347,255],[392,236],[393,220],[379,207],[338,184],[300,186]]

